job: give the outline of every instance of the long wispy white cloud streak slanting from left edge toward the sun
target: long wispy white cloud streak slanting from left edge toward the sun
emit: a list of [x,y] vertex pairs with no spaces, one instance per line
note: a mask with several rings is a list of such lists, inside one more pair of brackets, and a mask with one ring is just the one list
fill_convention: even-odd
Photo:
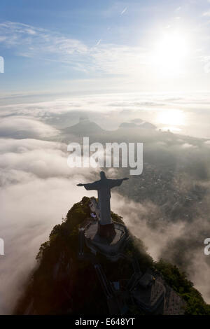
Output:
[[23,57],[36,57],[55,62],[55,65],[62,62],[86,73],[134,73],[139,65],[148,62],[145,50],[140,47],[102,45],[101,41],[95,46],[85,45],[77,39],[19,22],[0,24],[0,43],[15,48]]

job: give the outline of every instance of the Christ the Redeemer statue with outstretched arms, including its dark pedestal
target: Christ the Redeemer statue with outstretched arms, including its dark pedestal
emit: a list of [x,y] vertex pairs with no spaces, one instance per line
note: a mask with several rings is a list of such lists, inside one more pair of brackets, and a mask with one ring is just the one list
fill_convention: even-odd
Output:
[[106,179],[105,172],[100,172],[101,179],[94,183],[78,184],[77,186],[84,186],[86,190],[97,190],[99,209],[100,209],[100,221],[98,234],[103,237],[111,237],[115,235],[114,226],[111,219],[111,188],[120,186],[124,179]]

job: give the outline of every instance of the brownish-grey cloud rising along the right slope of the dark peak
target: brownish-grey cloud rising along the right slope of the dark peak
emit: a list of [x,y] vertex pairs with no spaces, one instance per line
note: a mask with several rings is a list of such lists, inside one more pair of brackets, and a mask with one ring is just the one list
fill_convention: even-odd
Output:
[[[209,204],[209,200],[207,203]],[[176,255],[178,258],[179,253],[185,255],[183,270],[188,273],[204,299],[210,301],[209,264],[203,252],[202,241],[203,233],[209,230],[207,219],[198,217],[193,223],[183,222],[181,219],[176,223],[165,222],[162,221],[160,208],[152,202],[137,203],[116,193],[113,194],[111,207],[123,216],[132,234],[144,241],[148,253],[155,260],[164,258],[174,263]],[[156,224],[149,225],[148,218],[151,223]]]

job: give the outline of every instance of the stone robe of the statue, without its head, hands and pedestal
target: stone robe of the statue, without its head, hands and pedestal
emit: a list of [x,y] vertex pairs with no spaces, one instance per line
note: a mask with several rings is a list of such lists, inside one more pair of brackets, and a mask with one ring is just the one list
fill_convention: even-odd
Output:
[[120,186],[123,183],[123,179],[100,179],[94,183],[84,184],[86,190],[97,190],[100,209],[100,224],[111,224],[111,188]]

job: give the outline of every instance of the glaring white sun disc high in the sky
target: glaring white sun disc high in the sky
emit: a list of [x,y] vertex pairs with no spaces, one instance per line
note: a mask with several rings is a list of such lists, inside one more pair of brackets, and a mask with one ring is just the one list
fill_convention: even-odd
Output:
[[155,71],[162,76],[176,76],[184,70],[188,57],[188,38],[181,31],[167,31],[153,49],[153,64]]

